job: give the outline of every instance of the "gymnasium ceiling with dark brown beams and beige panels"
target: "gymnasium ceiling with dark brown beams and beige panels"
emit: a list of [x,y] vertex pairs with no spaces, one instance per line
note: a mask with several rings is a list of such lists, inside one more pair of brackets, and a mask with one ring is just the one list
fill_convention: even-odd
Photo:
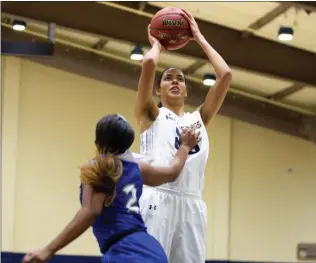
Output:
[[[55,23],[54,57],[75,61],[81,56],[99,70],[108,66],[134,75],[130,88],[135,89],[141,64],[129,59],[131,50],[135,44],[148,50],[147,25],[165,6],[189,10],[231,66],[233,82],[223,115],[305,139],[315,136],[315,2],[1,2],[1,36],[43,41],[48,23]],[[13,31],[14,18],[24,19],[27,30]],[[278,40],[281,25],[293,26],[292,41]],[[29,59],[49,63],[47,58]],[[214,73],[201,49],[192,42],[163,54],[159,70],[170,65],[182,69],[192,83],[188,103],[200,104],[207,92],[203,75]]]

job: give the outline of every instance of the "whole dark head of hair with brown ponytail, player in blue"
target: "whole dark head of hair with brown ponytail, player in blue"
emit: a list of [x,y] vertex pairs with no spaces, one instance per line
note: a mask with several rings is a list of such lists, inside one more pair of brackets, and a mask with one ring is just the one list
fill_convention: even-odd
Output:
[[124,154],[130,148],[134,142],[134,130],[123,116],[110,114],[98,121],[95,136],[97,154],[80,167],[81,183],[104,193],[105,205],[110,205],[123,172],[122,161],[116,155]]

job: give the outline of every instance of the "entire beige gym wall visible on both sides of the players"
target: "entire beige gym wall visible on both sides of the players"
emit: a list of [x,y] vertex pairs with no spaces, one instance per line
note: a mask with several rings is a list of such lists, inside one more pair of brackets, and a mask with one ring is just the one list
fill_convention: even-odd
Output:
[[[78,165],[94,153],[96,121],[119,112],[137,130],[135,92],[17,58],[4,66],[2,250],[25,251],[79,208]],[[316,236],[315,147],[222,116],[209,137],[208,258],[294,261],[295,244]],[[91,231],[60,253],[99,254]]]

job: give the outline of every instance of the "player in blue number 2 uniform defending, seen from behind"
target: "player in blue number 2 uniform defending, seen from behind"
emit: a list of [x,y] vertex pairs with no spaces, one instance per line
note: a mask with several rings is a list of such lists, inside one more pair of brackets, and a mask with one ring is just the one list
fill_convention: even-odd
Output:
[[90,226],[103,263],[168,262],[159,242],[146,232],[138,200],[143,183],[154,186],[175,180],[199,134],[184,132],[176,156],[165,168],[137,161],[128,151],[133,141],[134,131],[122,116],[108,115],[97,123],[98,154],[81,167],[80,210],[47,246],[27,253],[24,263],[46,262]]

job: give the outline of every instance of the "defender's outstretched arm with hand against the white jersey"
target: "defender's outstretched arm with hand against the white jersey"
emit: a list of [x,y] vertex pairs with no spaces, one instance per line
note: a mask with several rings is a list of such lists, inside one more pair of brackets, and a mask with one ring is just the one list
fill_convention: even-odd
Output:
[[195,133],[194,130],[187,130],[182,133],[181,145],[169,166],[151,166],[139,161],[144,184],[158,186],[167,182],[173,182],[180,174],[189,152],[200,141],[199,134],[199,132]]

